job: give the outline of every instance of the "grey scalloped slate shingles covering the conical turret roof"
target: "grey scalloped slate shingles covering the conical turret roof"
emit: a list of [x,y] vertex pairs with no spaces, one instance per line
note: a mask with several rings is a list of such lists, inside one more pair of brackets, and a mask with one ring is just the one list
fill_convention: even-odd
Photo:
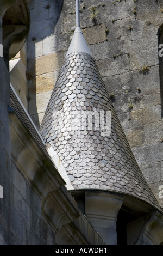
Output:
[[[111,111],[110,135],[102,136],[101,130],[81,127],[84,111]],[[40,133],[57,151],[74,189],[120,192],[160,208],[136,163],[89,54],[75,52],[66,57]]]

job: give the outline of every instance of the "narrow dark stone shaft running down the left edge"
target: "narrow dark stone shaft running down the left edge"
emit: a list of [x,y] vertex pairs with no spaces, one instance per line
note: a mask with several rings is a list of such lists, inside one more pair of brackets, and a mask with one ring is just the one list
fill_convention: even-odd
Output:
[[[2,36],[2,35],[1,35]],[[9,72],[4,63],[4,59],[0,58],[0,185],[3,187],[3,198],[1,198],[0,219],[2,220],[1,237],[2,244],[9,243],[9,228],[10,221],[10,136],[9,136],[9,121],[8,121],[8,104],[9,104]],[[5,199],[4,199],[5,198]]]

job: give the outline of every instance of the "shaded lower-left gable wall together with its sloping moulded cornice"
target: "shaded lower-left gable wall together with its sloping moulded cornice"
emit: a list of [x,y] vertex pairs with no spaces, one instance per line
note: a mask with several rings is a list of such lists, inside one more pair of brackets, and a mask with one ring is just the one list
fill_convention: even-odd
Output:
[[[14,92],[10,105],[11,173],[7,199],[11,199],[11,203],[8,207],[5,205],[10,235],[9,242],[5,240],[5,243],[104,245],[66,190],[65,181]],[[1,228],[4,230],[3,225]]]

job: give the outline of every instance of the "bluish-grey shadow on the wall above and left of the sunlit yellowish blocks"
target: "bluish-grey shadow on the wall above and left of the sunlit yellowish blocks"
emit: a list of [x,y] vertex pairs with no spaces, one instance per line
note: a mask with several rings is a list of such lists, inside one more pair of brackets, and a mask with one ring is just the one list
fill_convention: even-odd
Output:
[[[48,4],[47,4],[48,2]],[[55,26],[60,18],[62,11],[62,5],[64,0],[48,0],[35,3],[34,0],[30,1],[29,8],[31,14],[31,25],[30,32],[28,36],[28,46],[27,51],[30,51],[30,56],[28,57],[28,112],[30,117],[33,119],[37,129],[39,130],[39,114],[37,111],[37,102],[36,102],[36,47],[35,44],[39,44],[43,39],[47,38],[54,34]],[[40,10],[40,13],[39,13]],[[42,14],[41,14],[42,11]],[[45,20],[43,20],[43,18]],[[58,42],[59,43],[59,42]],[[30,50],[29,50],[30,48]],[[29,55],[29,54],[28,54]],[[40,57],[43,57],[43,54],[40,54]],[[42,59],[43,62],[43,59]],[[42,63],[46,65],[46,63]],[[44,66],[46,69],[46,66]],[[46,73],[46,72],[45,72]],[[41,81],[43,84],[43,81]],[[46,87],[46,84],[43,85]],[[43,106],[42,99],[42,106]]]

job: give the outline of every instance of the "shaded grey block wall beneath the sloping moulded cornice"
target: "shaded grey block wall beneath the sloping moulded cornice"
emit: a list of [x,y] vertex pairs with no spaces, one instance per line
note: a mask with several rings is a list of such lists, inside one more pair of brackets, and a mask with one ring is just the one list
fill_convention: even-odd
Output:
[[11,245],[55,245],[55,230],[41,212],[41,197],[22,175],[15,162],[12,168]]

